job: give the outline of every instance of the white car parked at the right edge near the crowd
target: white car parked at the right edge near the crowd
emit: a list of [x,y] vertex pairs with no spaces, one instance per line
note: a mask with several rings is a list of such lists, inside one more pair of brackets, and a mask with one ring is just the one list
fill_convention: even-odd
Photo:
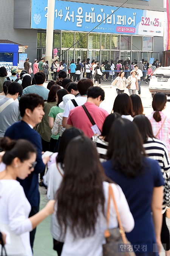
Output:
[[170,66],[159,67],[153,71],[150,77],[149,91],[152,97],[156,92],[164,92],[170,96]]

